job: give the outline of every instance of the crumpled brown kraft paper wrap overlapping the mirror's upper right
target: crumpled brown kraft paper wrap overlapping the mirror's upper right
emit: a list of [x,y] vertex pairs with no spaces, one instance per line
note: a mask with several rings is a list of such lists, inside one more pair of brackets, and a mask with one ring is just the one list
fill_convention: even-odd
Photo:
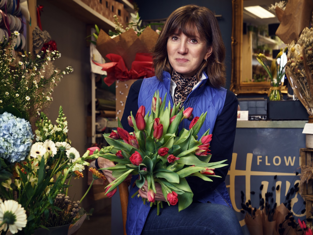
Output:
[[275,12],[281,22],[276,35],[285,44],[297,41],[303,29],[310,26],[312,11],[312,0],[289,0],[285,11],[276,7]]

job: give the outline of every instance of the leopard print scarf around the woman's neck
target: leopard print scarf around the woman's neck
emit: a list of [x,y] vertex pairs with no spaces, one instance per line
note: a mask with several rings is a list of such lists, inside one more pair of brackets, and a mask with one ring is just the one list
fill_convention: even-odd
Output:
[[182,109],[184,102],[187,99],[187,96],[192,91],[192,88],[198,83],[196,73],[192,77],[184,78],[181,74],[177,73],[175,70],[172,72],[172,80],[176,83],[176,88],[174,91],[174,102],[177,105],[179,102],[179,110]]

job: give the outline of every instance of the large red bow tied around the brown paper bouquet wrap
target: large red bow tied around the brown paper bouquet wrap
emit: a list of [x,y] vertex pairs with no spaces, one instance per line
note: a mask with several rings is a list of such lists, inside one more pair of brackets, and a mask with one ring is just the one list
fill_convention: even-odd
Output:
[[149,53],[137,53],[135,60],[131,64],[131,70],[128,70],[121,55],[108,54],[106,55],[112,62],[99,64],[92,61],[94,64],[102,67],[101,70],[107,71],[107,77],[104,78],[106,85],[111,86],[115,80],[126,81],[130,79],[138,79],[140,77],[154,76],[152,67],[152,56]]

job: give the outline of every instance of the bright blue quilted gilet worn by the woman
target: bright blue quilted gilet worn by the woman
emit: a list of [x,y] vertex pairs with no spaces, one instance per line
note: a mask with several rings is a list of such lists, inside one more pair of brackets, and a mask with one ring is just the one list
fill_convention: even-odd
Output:
[[[200,117],[203,112],[208,111],[205,122],[203,123],[202,128],[200,129],[198,136],[201,137],[208,129],[210,133],[213,132],[215,120],[217,116],[222,112],[225,97],[226,89],[224,88],[212,88],[206,84],[207,75],[205,74],[206,79],[203,79],[201,83],[188,95],[184,108],[192,107],[192,114],[194,117]],[[151,78],[146,78],[142,81],[141,89],[139,91],[138,97],[138,107],[144,105],[146,107],[146,113],[151,110],[152,97],[155,91],[159,90],[160,97],[166,97],[166,104],[171,102],[171,107],[173,106],[172,96],[170,94],[170,84],[171,76],[168,72],[163,72],[163,81],[158,80],[155,76]],[[164,101],[163,101],[164,102]],[[182,128],[189,128],[191,121],[184,119],[179,126],[179,131]],[[133,176],[131,180],[131,185],[134,184],[137,176]],[[150,211],[149,203],[143,205],[141,198],[131,198],[131,196],[138,190],[138,187],[135,185],[131,188],[128,198],[128,207],[127,207],[127,222],[126,222],[126,232],[128,235],[139,235],[142,231],[148,213]],[[203,195],[199,200],[200,202],[222,204],[225,206],[230,206],[230,198],[226,189],[225,183],[218,185],[216,190]],[[178,212],[178,209],[177,209]]]

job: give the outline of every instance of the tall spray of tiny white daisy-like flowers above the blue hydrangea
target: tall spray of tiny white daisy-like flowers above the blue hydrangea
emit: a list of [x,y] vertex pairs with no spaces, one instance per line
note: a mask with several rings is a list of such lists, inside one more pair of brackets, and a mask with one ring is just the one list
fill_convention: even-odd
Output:
[[12,41],[18,35],[18,31],[14,31],[9,40],[4,38],[4,42],[0,42],[0,108],[12,105],[21,112],[23,118],[29,119],[52,102],[52,88],[73,69],[68,66],[62,72],[54,70],[49,76],[44,76],[47,75],[46,66],[61,57],[59,51],[49,50],[41,51],[34,59],[30,52],[28,57],[22,55],[23,60],[12,66],[15,60]]

